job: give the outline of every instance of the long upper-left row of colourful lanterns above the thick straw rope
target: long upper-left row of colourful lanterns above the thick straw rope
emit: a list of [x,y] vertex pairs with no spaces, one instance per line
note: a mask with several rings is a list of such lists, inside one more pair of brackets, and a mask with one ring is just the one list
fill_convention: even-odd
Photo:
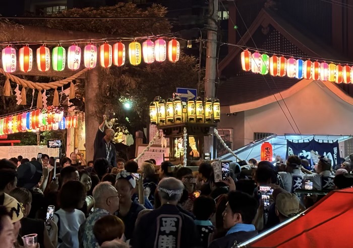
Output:
[[[167,52],[168,51],[168,52]],[[51,52],[44,44],[37,49],[37,67],[41,72],[46,72],[50,69],[50,63],[54,71],[61,72],[65,69],[66,63],[70,70],[76,71],[81,65],[81,48],[74,43],[66,49],[59,44],[54,47]],[[137,66],[141,64],[141,58],[147,64],[153,63],[155,60],[163,62],[168,55],[168,60],[177,62],[180,56],[180,43],[177,39],[173,38],[166,44],[162,38],[156,41],[147,39],[141,44],[134,40],[129,44],[129,60],[130,64]],[[84,66],[85,68],[93,69],[97,65],[98,49],[92,43],[84,47]],[[111,67],[114,64],[117,67],[125,65],[125,45],[120,41],[113,46],[105,42],[99,46],[99,62],[103,68]],[[2,61],[4,71],[13,73],[16,71],[17,57],[16,50],[11,45],[2,50]],[[30,72],[33,67],[33,50],[28,45],[20,48],[19,50],[19,65],[21,72]]]

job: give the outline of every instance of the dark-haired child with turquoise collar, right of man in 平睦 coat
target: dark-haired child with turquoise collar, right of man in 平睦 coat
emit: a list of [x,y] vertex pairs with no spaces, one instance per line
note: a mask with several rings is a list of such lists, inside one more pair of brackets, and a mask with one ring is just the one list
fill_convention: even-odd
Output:
[[201,237],[200,247],[207,248],[214,232],[214,226],[210,221],[216,211],[216,202],[205,196],[200,196],[194,201],[193,212],[195,225]]

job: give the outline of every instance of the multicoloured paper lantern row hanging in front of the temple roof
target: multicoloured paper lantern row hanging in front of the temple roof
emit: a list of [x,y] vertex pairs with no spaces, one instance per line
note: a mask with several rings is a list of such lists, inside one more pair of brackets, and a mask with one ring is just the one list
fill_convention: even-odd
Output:
[[269,56],[260,54],[259,52],[251,53],[249,50],[244,50],[241,53],[242,69],[271,76],[297,79],[313,79],[321,81],[330,81],[339,83],[353,83],[353,66],[342,66],[333,63],[318,62],[295,59],[293,57],[285,58],[276,55]]

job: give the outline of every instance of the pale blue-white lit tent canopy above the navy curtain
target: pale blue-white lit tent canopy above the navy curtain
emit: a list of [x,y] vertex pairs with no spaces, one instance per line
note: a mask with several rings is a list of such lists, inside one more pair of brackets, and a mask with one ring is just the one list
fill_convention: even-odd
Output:
[[[260,160],[260,150],[261,145],[264,142],[269,142],[272,145],[273,150],[273,158],[276,156],[281,156],[281,158],[285,158],[285,152],[287,148],[287,140],[292,142],[307,142],[312,139],[315,139],[318,142],[342,142],[348,139],[351,139],[352,136],[341,136],[341,135],[272,135],[265,139],[258,140],[250,143],[238,150],[233,151],[243,160],[249,160],[251,158],[255,158],[256,160]],[[232,160],[236,161],[236,158],[227,153],[221,157],[222,160]],[[274,159],[273,159],[274,160]]]

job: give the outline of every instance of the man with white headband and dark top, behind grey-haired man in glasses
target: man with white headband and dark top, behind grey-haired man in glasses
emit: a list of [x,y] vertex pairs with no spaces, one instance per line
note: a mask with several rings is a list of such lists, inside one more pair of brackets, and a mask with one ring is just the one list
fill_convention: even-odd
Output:
[[126,170],[121,171],[116,175],[115,189],[119,194],[119,211],[115,215],[121,218],[125,224],[126,240],[131,239],[137,215],[144,206],[137,201],[132,200],[136,188],[136,180],[131,173]]

